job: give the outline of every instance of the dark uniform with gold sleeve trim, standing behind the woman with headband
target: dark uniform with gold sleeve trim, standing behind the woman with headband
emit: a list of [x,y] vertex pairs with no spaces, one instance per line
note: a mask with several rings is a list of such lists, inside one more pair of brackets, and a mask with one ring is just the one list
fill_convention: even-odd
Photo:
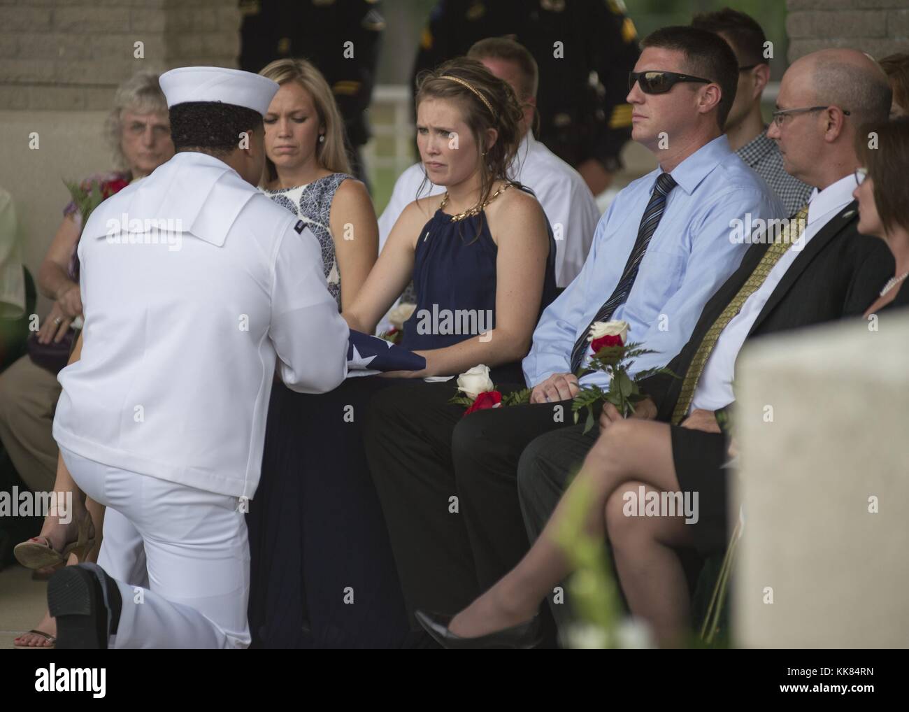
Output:
[[507,35],[540,69],[537,138],[575,168],[614,173],[631,138],[628,73],[640,49],[622,0],[439,0],[420,39],[414,77]]

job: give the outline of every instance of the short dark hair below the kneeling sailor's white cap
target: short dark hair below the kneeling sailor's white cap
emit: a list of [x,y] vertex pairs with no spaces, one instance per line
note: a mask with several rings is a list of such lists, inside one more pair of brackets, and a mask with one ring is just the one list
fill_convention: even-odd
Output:
[[231,153],[244,131],[261,131],[262,115],[234,104],[188,101],[170,108],[171,139],[176,151],[198,148],[213,155]]

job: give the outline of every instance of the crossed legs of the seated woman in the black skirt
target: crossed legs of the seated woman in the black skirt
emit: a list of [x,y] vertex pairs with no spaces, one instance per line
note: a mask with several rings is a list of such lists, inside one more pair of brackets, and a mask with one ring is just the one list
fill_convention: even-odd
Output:
[[597,439],[534,546],[494,587],[452,619],[452,633],[478,637],[534,616],[549,591],[571,573],[556,532],[566,516],[568,493],[584,486],[590,493],[584,528],[593,537],[608,532],[632,612],[654,627],[662,645],[677,645],[684,635],[689,600],[674,548],[691,546],[691,534],[678,516],[625,516],[623,494],[629,489],[636,493],[640,485],[678,491],[670,426],[628,419]]

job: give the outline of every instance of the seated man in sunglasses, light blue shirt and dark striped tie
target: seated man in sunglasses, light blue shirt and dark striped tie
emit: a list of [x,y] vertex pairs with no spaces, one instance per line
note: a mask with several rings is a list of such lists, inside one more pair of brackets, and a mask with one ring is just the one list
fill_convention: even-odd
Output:
[[[389,389],[373,402],[366,448],[411,613],[460,610],[526,552],[518,466],[535,437],[583,427],[572,422],[573,361],[587,358],[591,322],[624,319],[628,338],[657,352],[634,370],[666,364],[748,247],[734,237],[736,221],[784,217],[722,134],[738,82],[729,45],[705,30],[669,27],[643,46],[629,77],[632,137],[660,167],[616,196],[581,273],[545,309],[523,362],[531,403],[462,418],[447,404],[449,384],[418,397]],[[608,379],[591,374],[582,383]],[[456,515],[445,493],[456,493]]]

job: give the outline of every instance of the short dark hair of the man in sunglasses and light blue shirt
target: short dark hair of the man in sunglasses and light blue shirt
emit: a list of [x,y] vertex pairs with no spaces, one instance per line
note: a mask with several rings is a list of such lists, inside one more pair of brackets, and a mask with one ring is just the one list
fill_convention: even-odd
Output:
[[[697,27],[663,27],[644,37],[641,46],[672,49],[684,54],[684,73],[709,79],[720,85],[716,122],[722,129],[735,101],[738,86],[738,61],[732,48],[720,35]],[[654,69],[664,67],[654,67]]]

